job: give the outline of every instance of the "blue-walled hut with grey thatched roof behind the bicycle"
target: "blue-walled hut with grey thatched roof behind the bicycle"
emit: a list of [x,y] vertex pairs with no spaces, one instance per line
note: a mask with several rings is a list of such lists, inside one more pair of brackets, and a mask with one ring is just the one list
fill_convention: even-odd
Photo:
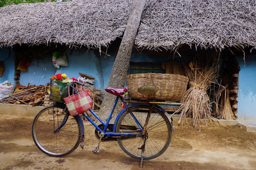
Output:
[[[20,72],[20,84],[42,84],[47,83],[52,74],[77,76],[83,72],[94,76],[96,87],[104,89],[131,4],[132,0],[77,0],[0,8],[0,59],[5,65],[0,81],[18,81],[14,73],[15,59],[25,57],[31,65],[28,72]],[[238,117],[256,118],[253,111],[256,88],[252,78],[255,74],[255,8],[254,1],[243,0],[147,1],[129,73],[150,69],[162,73],[161,64],[171,59],[188,63],[198,55],[207,60],[211,53],[220,52],[221,66],[234,76],[231,82],[234,85],[230,87],[234,90],[230,96],[232,111],[235,115],[238,113]],[[52,66],[49,53],[56,50],[66,52],[67,67]]]

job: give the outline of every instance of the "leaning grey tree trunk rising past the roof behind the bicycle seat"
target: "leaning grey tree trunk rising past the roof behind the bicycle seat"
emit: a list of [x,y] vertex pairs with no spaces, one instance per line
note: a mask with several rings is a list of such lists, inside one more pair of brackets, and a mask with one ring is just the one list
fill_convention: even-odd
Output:
[[[127,21],[124,36],[120,44],[114,66],[109,78],[108,87],[122,88],[124,87],[127,71],[129,67],[129,61],[131,58],[132,48],[137,35],[138,28],[140,26],[141,13],[145,6],[146,0],[134,0],[132,11]],[[107,93],[102,106],[100,107],[100,113],[102,118],[107,118],[113,103],[115,96]]]

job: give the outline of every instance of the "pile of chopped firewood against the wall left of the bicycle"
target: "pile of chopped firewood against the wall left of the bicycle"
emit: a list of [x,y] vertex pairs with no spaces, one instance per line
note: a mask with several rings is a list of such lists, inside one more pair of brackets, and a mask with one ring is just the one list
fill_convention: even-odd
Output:
[[10,97],[4,98],[1,102],[41,106],[44,103],[48,88],[45,85],[18,85],[13,94]]

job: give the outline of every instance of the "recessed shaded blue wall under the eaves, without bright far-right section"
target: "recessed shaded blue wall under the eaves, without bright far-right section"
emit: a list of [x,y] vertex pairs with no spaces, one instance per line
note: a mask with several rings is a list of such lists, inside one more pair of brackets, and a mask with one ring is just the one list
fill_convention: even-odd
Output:
[[[8,48],[0,50],[1,58],[8,57]],[[47,55],[40,59],[31,60],[31,65],[28,67],[28,72],[20,71],[20,84],[21,85],[44,85],[49,82],[52,75],[58,73],[66,73],[68,77],[78,78],[79,72],[89,74],[95,77],[95,87],[98,89],[105,89],[108,87],[109,77],[115,62],[115,56],[99,55],[98,51],[90,50],[88,52],[83,50],[67,50],[68,66],[61,66],[60,69],[52,65],[52,56]],[[3,60],[2,59],[2,60]],[[132,62],[164,62],[173,59],[173,57],[156,57],[152,54],[136,52],[132,53]],[[179,60],[182,57],[175,57]],[[184,58],[183,58],[184,59]],[[5,64],[5,63],[4,63]],[[14,55],[6,60],[6,74],[0,81],[9,80],[13,83],[14,77]]]

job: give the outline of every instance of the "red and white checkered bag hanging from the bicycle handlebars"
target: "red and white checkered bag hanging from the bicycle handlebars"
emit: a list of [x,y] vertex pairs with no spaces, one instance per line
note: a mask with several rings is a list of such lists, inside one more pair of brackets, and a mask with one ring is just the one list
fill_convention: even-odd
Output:
[[92,108],[92,100],[88,90],[81,90],[79,93],[65,97],[63,100],[71,116],[79,115]]

